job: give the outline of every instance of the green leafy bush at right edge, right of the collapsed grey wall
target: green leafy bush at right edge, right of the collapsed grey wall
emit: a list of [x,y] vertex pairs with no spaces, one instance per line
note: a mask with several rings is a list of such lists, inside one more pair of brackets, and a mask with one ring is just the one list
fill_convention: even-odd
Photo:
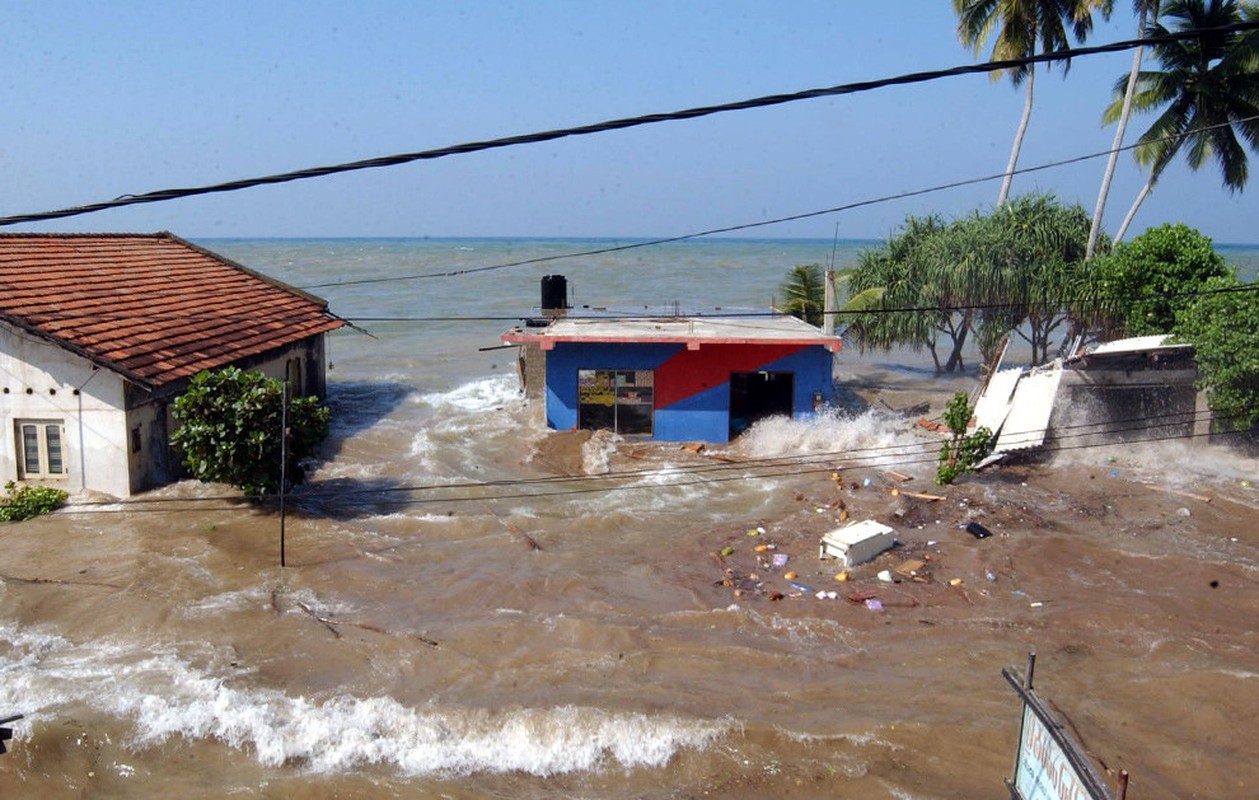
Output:
[[1214,277],[1202,290],[1177,314],[1176,336],[1194,344],[1216,425],[1250,430],[1259,425],[1259,281]]

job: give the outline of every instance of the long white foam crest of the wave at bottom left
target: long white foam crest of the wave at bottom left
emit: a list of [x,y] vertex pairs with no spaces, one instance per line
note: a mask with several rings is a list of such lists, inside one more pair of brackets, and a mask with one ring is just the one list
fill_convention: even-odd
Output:
[[130,746],[213,738],[264,766],[296,761],[316,772],[392,765],[407,775],[546,776],[598,770],[609,761],[622,769],[658,767],[680,748],[704,747],[731,726],[574,706],[490,712],[409,708],[392,697],[316,700],[235,688],[228,677],[200,671],[172,651],[74,644],[14,625],[0,625],[0,651],[6,651],[0,708],[26,714],[19,737],[65,707],[89,706],[130,721]]

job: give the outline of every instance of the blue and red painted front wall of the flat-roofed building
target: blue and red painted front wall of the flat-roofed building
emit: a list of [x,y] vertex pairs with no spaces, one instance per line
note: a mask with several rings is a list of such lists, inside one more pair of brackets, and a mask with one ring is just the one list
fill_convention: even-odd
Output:
[[794,374],[794,416],[813,413],[813,394],[830,402],[833,355],[823,346],[556,343],[546,354],[546,423],[577,427],[579,369],[655,370],[655,435],[660,441],[729,440],[730,373]]

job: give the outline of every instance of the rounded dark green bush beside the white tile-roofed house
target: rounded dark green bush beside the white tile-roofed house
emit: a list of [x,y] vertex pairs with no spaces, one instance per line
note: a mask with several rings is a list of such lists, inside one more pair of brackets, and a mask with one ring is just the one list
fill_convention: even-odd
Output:
[[[175,401],[183,425],[171,442],[184,451],[193,477],[230,484],[247,495],[279,489],[283,382],[228,367],[199,373]],[[329,409],[300,397],[288,408],[287,483],[303,476],[301,461],[327,437]]]

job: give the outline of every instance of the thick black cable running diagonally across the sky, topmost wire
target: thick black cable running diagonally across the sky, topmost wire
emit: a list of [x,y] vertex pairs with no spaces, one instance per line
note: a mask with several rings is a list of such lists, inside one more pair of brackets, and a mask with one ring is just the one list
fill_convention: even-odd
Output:
[[1074,48],[1056,50],[1053,53],[1041,53],[1039,55],[1030,55],[1016,59],[1005,59],[986,62],[981,64],[964,64],[959,67],[952,67],[948,69],[934,69],[928,72],[914,72],[901,76],[895,76],[890,78],[881,78],[876,81],[861,81],[855,83],[845,83],[840,86],[832,86],[826,88],[813,88],[805,89],[801,92],[789,92],[783,94],[768,94],[763,97],[755,97],[750,100],[743,100],[730,103],[720,103],[714,106],[700,106],[695,108],[686,108],[682,111],[674,111],[667,113],[650,113],[635,117],[623,117],[618,120],[608,120],[604,122],[596,122],[592,125],[580,125],[575,127],[555,129],[550,131],[540,131],[535,134],[524,134],[517,136],[507,136],[504,139],[491,139],[486,141],[473,141],[465,142],[461,145],[453,145],[448,147],[438,147],[436,150],[422,150],[418,152],[404,152],[390,156],[380,156],[373,159],[365,159],[360,161],[350,161],[345,164],[336,164],[331,166],[316,166],[308,169],[295,170],[290,173],[278,173],[273,175],[266,175],[262,178],[247,178],[240,180],[232,180],[220,184],[205,185],[205,186],[193,186],[184,189],[161,189],[157,191],[147,191],[144,194],[125,194],[117,197],[112,200],[104,200],[99,203],[91,203],[86,205],[76,205],[72,208],[64,208],[60,210],[39,212],[31,214],[14,214],[9,217],[0,217],[0,227],[13,226],[29,222],[47,222],[50,219],[62,219],[65,217],[77,217],[82,214],[91,214],[99,210],[106,210],[111,208],[121,208],[125,205],[136,205],[141,203],[161,203],[166,200],[175,200],[180,198],[195,197],[201,194],[217,194],[224,191],[238,191],[240,189],[251,189],[254,186],[271,185],[290,183],[295,180],[306,180],[311,178],[324,178],[327,175],[336,175],[340,173],[351,173],[365,169],[378,169],[385,166],[398,166],[402,164],[409,164],[412,161],[424,161],[442,159],[452,155],[462,155],[468,152],[478,152],[483,150],[495,150],[500,147],[511,147],[519,145],[539,144],[545,141],[554,141],[558,139],[565,139],[570,136],[588,136],[592,134],[602,134],[614,130],[624,130],[631,127],[638,127],[642,125],[655,125],[658,122],[681,121],[681,120],[695,120],[699,117],[706,117],[715,113],[723,113],[728,111],[747,111],[752,108],[764,108],[769,106],[778,106],[783,103],[798,102],[802,100],[816,100],[820,97],[838,97],[844,94],[855,94],[860,92],[869,92],[878,88],[886,88],[889,86],[906,86],[912,83],[923,83],[927,81],[937,81],[940,78],[949,78],[964,74],[985,73],[985,72],[1000,72],[1003,69],[1015,69],[1020,67],[1026,67],[1037,63],[1051,63],[1058,60],[1070,60],[1071,58],[1079,58],[1085,55],[1097,55],[1102,53],[1118,53],[1122,50],[1129,50],[1138,47],[1147,47],[1152,44],[1167,44],[1172,42],[1178,42],[1182,39],[1195,39],[1204,35],[1217,35],[1228,33],[1240,33],[1244,30],[1259,29],[1259,21],[1244,21],[1234,25],[1225,25],[1220,28],[1202,28],[1188,31],[1173,33],[1165,37],[1155,37],[1146,39],[1128,39],[1123,42],[1114,42],[1110,44],[1102,44],[1087,48]]

